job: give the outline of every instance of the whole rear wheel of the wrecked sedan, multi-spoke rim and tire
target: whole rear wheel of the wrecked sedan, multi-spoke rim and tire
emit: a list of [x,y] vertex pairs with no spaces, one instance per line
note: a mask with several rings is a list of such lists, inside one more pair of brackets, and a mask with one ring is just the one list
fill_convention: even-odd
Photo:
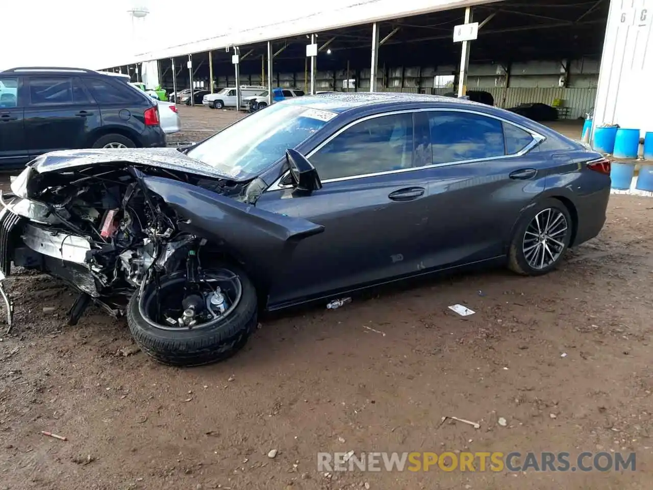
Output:
[[510,245],[508,267],[525,276],[556,269],[564,256],[573,223],[569,210],[557,199],[545,199],[524,213]]

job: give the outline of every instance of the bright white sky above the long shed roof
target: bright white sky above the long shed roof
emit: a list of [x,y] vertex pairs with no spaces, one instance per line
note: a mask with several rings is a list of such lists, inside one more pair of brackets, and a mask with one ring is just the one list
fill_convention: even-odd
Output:
[[[319,12],[325,5],[338,8],[355,3],[357,0],[294,2],[291,15],[297,18]],[[135,37],[127,11],[136,5],[148,8],[150,14],[137,21]],[[183,12],[185,5],[191,5],[192,11]],[[2,23],[3,39],[16,42],[0,50],[0,70],[17,66],[116,66],[155,48],[279,22],[289,12],[279,8],[279,3],[261,1],[230,16],[229,9],[223,8],[228,5],[179,0],[48,0],[39,5],[29,0],[12,2],[11,18],[29,22],[5,19]]]

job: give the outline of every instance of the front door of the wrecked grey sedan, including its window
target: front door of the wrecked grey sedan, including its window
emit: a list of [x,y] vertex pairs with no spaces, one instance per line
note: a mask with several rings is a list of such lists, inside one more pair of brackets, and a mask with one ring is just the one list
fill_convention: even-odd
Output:
[[[323,188],[271,188],[257,207],[325,226],[300,242],[270,304],[324,296],[419,271],[428,181],[412,171],[413,114],[359,120],[309,154]],[[282,181],[283,182],[283,181]]]

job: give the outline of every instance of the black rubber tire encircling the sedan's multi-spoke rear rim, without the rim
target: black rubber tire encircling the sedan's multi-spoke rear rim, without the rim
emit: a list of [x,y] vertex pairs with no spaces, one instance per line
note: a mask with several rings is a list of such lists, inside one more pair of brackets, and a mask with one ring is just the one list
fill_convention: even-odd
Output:
[[[556,257],[552,263],[541,268],[533,267],[529,263],[526,257],[526,253],[524,252],[524,238],[526,237],[526,232],[529,230],[530,224],[533,220],[535,220],[535,216],[538,216],[540,213],[547,210],[555,210],[564,216],[567,228],[565,230],[564,237],[558,240],[560,243],[564,244],[564,247],[562,247],[562,250],[559,251],[559,254],[558,249],[556,248]],[[565,206],[561,201],[558,201],[558,199],[544,199],[540,203],[537,203],[535,206],[524,212],[524,214],[522,214],[522,216],[519,218],[517,227],[515,227],[515,234],[511,240],[510,249],[508,252],[508,268],[513,272],[517,272],[517,274],[521,274],[522,276],[541,276],[543,274],[547,274],[551,270],[556,269],[558,265],[560,265],[560,262],[562,261],[567,248],[569,248],[572,232],[573,221],[571,220],[571,215],[569,214],[567,206]],[[529,233],[528,236],[532,237],[533,233]]]

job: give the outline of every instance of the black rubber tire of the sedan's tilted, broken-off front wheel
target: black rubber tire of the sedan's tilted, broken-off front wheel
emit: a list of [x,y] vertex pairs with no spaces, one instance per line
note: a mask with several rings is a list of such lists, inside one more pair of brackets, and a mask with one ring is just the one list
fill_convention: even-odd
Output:
[[[138,310],[137,294],[127,306],[127,324],[142,351],[168,366],[191,367],[223,361],[242,349],[257,324],[256,289],[245,272],[232,264],[225,265],[238,275],[242,297],[236,309],[224,321],[196,330],[164,330],[153,327]],[[161,278],[161,283],[165,278]]]

